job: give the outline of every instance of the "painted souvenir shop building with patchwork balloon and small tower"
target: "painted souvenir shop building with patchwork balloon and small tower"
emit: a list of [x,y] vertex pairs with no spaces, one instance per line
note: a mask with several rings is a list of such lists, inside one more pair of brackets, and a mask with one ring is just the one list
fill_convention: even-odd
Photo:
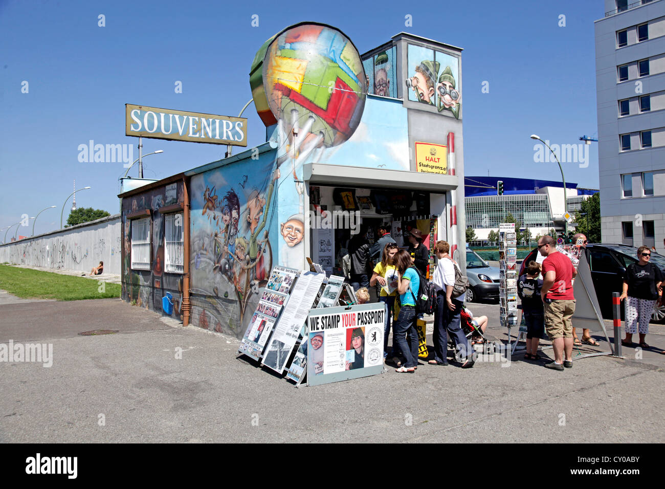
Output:
[[[464,264],[461,49],[400,33],[359,55],[301,23],[259,49],[255,148],[119,195],[122,298],[241,337],[271,268],[339,273],[348,239],[418,228]],[[167,307],[168,309],[168,307]]]

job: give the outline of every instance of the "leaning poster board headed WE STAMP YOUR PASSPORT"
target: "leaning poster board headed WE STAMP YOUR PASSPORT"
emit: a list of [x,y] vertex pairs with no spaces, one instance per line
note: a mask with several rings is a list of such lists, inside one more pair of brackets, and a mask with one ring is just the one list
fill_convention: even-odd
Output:
[[309,332],[303,338],[306,343],[303,349],[307,350],[307,385],[381,373],[385,314],[383,303],[309,311]]

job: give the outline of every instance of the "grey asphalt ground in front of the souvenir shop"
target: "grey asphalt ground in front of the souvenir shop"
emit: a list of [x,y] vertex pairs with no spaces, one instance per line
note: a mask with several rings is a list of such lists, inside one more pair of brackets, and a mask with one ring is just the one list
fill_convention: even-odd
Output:
[[[471,309],[506,338],[498,305]],[[78,335],[93,329],[119,332]],[[665,327],[647,339],[665,347]],[[665,441],[665,355],[655,351],[564,372],[521,357],[424,364],[296,389],[236,359],[237,340],[118,299],[0,305],[0,343],[9,340],[53,345],[53,365],[0,362],[0,442]]]

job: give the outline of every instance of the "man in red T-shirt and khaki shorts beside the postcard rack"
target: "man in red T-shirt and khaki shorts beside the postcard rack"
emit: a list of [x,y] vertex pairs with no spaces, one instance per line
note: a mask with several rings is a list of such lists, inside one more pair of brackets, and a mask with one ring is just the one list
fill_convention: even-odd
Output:
[[[545,331],[552,340],[554,361],[545,365],[548,369],[562,371],[573,367],[573,322],[575,296],[573,277],[577,270],[569,257],[557,251],[554,239],[543,236],[538,240],[538,251],[543,261],[543,288],[541,297],[545,305]],[[563,355],[565,354],[565,360]]]

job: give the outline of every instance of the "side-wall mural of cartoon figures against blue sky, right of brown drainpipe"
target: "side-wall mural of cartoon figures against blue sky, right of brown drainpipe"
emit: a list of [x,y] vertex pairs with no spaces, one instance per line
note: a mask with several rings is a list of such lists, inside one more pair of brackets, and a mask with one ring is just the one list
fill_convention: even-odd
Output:
[[277,261],[275,152],[190,180],[192,323],[241,333]]

